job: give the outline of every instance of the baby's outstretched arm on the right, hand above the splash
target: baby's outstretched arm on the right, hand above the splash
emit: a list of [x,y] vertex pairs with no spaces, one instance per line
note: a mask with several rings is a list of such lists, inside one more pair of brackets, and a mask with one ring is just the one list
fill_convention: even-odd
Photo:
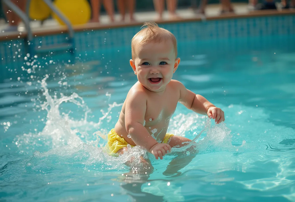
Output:
[[181,82],[177,81],[177,85],[180,89],[179,102],[184,106],[196,113],[207,114],[209,118],[215,119],[216,123],[224,121],[224,112],[220,108],[215,107],[205,97],[186,89]]

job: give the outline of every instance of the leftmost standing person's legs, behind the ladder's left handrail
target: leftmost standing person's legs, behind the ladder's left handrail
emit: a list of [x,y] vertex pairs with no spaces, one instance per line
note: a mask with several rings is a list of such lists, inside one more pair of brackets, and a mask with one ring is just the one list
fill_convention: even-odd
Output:
[[[27,4],[26,0],[10,0],[10,1],[16,6],[18,6],[22,11],[25,10],[26,4]],[[17,27],[19,25],[19,22],[21,22],[21,18],[16,13],[14,13],[10,8],[8,8],[5,4],[2,4],[2,5],[3,5],[4,14],[9,24],[9,26],[3,31],[4,32],[17,31]]]

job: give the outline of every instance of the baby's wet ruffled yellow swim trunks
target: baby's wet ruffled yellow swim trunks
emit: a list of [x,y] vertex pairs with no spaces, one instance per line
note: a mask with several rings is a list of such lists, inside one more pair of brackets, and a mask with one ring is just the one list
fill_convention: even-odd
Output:
[[[168,140],[173,136],[173,134],[166,133],[162,143],[167,143]],[[116,132],[115,129],[113,128],[111,131],[108,133],[108,143],[107,145],[109,146],[109,150],[111,153],[117,153],[119,149],[122,149],[123,147],[127,147],[128,142],[124,139],[121,138]],[[131,145],[131,147],[134,147]]]

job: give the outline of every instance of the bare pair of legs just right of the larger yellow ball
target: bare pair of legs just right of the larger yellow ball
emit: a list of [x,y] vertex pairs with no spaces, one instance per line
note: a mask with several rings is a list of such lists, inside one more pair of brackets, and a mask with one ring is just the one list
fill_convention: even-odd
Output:
[[[91,22],[99,22],[101,0],[91,0],[92,19]],[[111,22],[115,21],[114,18],[114,2],[113,0],[103,0],[104,8],[109,14]]]

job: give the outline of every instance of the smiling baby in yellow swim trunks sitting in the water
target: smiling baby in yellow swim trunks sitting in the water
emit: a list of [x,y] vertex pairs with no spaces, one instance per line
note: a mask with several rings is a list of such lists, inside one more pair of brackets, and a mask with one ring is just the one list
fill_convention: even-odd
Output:
[[175,36],[153,22],[142,27],[131,42],[130,65],[138,82],[129,90],[119,120],[108,134],[108,146],[110,152],[123,154],[127,144],[139,145],[163,159],[171,147],[191,141],[166,133],[178,102],[216,123],[224,121],[224,112],[172,79],[180,62]]

